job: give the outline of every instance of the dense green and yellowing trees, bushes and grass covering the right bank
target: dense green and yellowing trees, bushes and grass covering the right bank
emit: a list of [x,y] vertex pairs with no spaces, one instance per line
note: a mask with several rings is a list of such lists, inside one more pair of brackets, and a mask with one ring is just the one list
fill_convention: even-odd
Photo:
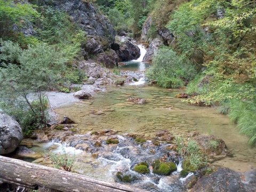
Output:
[[[255,2],[166,0],[161,3],[179,5],[172,7],[169,21],[163,21],[161,25],[167,23],[166,27],[176,37],[172,49],[178,53],[177,57],[190,60],[200,72],[188,85],[187,93],[194,97],[189,98],[187,102],[199,105],[221,104],[221,112],[228,114],[231,120],[238,124],[241,132],[250,138],[249,143],[254,145],[256,143]],[[161,9],[159,6],[155,6],[152,12],[155,20],[162,18],[161,14],[157,14],[156,10],[159,9]],[[155,72],[154,79],[160,86],[183,85],[177,83],[177,86],[173,86],[169,83],[170,78],[180,74],[180,68],[173,69],[169,64],[174,63],[173,60],[178,61],[177,57],[172,55],[169,61],[161,60],[163,66],[159,66],[159,58],[163,58],[163,50],[160,50],[155,57],[153,69],[159,69],[161,73]],[[187,65],[187,62],[181,61],[179,66],[183,68]],[[163,71],[170,73],[167,74],[169,78],[165,77],[166,73]],[[152,77],[150,75],[151,73],[149,77]],[[184,74],[184,77],[190,76]]]

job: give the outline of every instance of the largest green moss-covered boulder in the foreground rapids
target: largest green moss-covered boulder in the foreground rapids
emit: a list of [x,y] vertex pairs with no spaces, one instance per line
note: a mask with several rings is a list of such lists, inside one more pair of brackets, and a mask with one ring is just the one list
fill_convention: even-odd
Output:
[[159,160],[153,163],[153,173],[159,175],[170,175],[171,172],[177,171],[177,165],[173,162],[161,162]]

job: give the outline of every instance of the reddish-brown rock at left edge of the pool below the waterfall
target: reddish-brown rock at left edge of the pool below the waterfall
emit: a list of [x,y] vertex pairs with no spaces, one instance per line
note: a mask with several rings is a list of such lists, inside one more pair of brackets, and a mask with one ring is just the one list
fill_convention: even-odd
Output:
[[118,65],[119,57],[114,50],[108,50],[97,55],[97,62],[107,68],[114,68]]

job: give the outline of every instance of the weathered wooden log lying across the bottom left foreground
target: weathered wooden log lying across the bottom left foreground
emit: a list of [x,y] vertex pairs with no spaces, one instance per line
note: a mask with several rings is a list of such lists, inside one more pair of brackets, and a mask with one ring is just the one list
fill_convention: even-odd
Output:
[[3,156],[0,156],[0,180],[31,189],[42,186],[59,191],[75,192],[144,191]]

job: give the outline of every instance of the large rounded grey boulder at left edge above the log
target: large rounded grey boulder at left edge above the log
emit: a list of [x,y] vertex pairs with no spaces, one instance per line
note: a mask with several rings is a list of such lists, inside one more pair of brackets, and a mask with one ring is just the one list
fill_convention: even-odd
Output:
[[0,112],[0,155],[13,152],[22,138],[19,123],[11,116]]

